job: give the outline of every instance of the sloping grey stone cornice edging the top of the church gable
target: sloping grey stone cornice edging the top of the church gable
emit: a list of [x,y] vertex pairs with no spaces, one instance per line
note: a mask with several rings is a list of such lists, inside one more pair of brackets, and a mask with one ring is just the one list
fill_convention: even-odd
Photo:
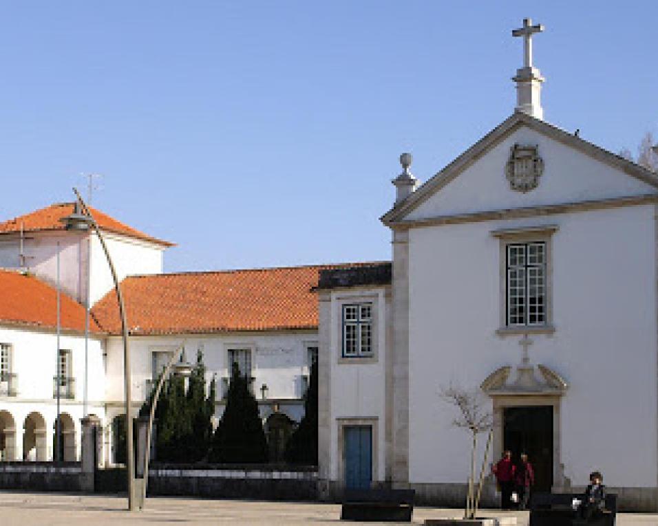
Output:
[[513,133],[513,131],[516,131],[516,129],[523,126],[537,131],[538,133],[542,133],[566,146],[571,146],[571,148],[580,151],[599,162],[604,162],[609,166],[613,166],[613,168],[617,168],[619,171],[658,189],[658,174],[653,173],[620,155],[603,149],[596,144],[588,142],[573,133],[564,131],[553,124],[549,124],[544,120],[531,117],[521,111],[516,111],[505,121],[498,124],[496,128],[489,131],[487,135],[478,140],[478,142],[467,149],[467,151],[445,166],[440,172],[428,179],[427,182],[421,185],[414,193],[411,193],[405,199],[396,203],[391,210],[381,217],[381,221],[385,225],[391,226],[397,221],[404,219],[409,212],[458,177],[460,173],[465,171],[466,168],[480,159],[480,157],[484,156],[490,149],[496,146],[496,144],[505,140],[505,138]]

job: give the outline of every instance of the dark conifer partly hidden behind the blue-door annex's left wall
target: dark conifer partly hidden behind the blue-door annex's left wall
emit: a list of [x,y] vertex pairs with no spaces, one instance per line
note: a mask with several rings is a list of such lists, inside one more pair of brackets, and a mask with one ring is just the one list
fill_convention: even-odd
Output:
[[293,464],[317,465],[317,360],[304,395],[304,417],[288,439],[285,456]]

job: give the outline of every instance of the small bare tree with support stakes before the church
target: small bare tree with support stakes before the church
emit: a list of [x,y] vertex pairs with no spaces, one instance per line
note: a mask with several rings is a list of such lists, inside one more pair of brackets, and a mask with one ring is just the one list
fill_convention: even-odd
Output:
[[[464,388],[449,386],[441,389],[439,394],[447,404],[457,408],[457,417],[452,421],[456,428],[464,429],[471,434],[471,473],[468,479],[468,492],[464,518],[475,518],[478,513],[480,496],[482,496],[482,485],[485,481],[485,467],[489,448],[494,431],[493,415],[485,408],[485,400],[480,391],[467,391]],[[482,459],[480,476],[478,480],[478,491],[475,491],[476,454],[478,449],[478,435],[489,431],[485,456]]]

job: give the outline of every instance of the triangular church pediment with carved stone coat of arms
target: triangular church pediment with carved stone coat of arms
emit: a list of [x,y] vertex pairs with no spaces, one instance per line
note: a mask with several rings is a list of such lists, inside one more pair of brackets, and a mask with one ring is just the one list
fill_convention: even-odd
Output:
[[427,219],[658,196],[658,174],[516,112],[381,219]]

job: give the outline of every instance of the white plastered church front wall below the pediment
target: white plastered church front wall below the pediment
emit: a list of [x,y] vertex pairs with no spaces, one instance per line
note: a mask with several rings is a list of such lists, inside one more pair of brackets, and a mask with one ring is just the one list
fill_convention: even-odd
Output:
[[593,469],[612,486],[657,479],[655,208],[635,206],[410,231],[410,482],[465,480],[469,441],[438,391],[476,388],[521,358],[501,338],[501,228],[553,234],[555,333],[533,335],[530,358],[570,384],[560,410],[565,475]]

